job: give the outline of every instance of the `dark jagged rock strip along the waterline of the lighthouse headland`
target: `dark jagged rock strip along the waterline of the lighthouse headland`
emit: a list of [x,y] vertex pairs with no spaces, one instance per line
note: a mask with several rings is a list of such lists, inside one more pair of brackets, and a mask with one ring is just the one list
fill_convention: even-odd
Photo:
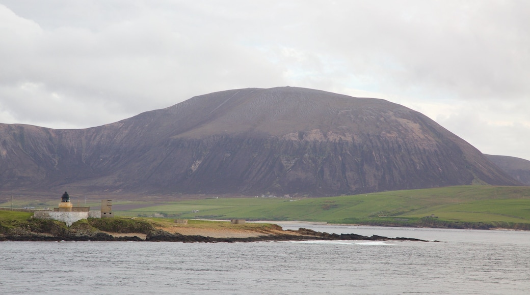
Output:
[[428,242],[417,238],[406,237],[383,237],[383,236],[361,236],[356,234],[329,234],[315,232],[312,229],[299,228],[297,231],[284,231],[285,233],[263,234],[249,237],[210,237],[201,235],[182,235],[178,233],[169,233],[163,230],[152,231],[144,238],[137,235],[117,235],[98,232],[93,234],[65,234],[50,235],[39,233],[25,233],[0,235],[0,241],[134,241],[134,242],[184,242],[184,243],[235,243],[235,242],[264,242],[264,241],[414,241]]

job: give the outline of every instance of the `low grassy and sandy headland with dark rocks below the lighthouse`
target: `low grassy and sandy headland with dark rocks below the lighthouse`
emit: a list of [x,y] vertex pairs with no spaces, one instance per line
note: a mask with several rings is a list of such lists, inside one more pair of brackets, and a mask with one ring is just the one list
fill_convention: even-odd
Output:
[[415,238],[329,234],[299,228],[284,231],[274,224],[231,225],[229,222],[202,222],[175,225],[147,219],[89,218],[71,227],[56,220],[30,219],[18,225],[0,225],[0,241],[146,241],[146,242],[262,242],[262,241],[422,241]]

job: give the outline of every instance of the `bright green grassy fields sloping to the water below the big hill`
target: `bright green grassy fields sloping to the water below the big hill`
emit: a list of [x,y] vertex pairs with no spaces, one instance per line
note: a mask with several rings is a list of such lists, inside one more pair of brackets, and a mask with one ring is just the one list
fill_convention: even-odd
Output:
[[[193,210],[199,210],[193,213]],[[312,220],[374,225],[530,229],[530,187],[458,186],[330,198],[202,199],[116,211],[166,213],[179,218]],[[438,218],[425,218],[434,214]],[[460,223],[460,225],[458,225]],[[462,225],[465,223],[465,225]],[[514,224],[519,224],[514,226]]]

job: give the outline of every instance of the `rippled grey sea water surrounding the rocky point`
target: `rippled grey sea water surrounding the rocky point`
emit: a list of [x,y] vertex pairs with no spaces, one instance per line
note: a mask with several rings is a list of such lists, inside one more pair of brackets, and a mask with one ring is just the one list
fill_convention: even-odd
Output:
[[430,242],[7,241],[0,294],[530,294],[530,232],[277,224]]

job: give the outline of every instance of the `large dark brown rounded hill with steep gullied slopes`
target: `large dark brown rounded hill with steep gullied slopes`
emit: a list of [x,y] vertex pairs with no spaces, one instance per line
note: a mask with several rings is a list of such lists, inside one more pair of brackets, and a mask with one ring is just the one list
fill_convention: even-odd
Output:
[[341,195],[518,185],[428,117],[382,99],[236,89],[81,130],[0,124],[0,190]]

